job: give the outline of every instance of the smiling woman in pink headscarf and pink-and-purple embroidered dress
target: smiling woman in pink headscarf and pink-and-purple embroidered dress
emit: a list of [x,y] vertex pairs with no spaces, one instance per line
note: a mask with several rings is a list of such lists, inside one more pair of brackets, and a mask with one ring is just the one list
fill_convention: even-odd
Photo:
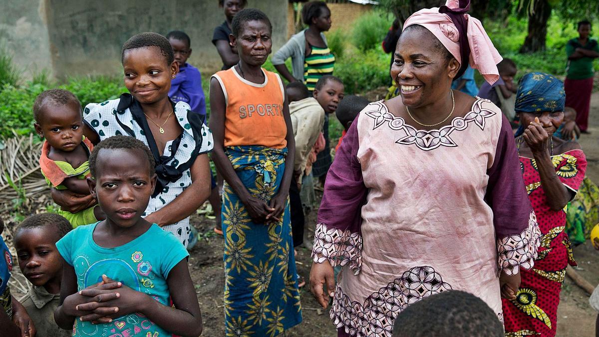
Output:
[[391,68],[401,95],[362,110],[329,170],[310,288],[323,307],[333,297],[338,336],[391,336],[400,311],[446,290],[501,319],[501,296],[513,299],[519,270],[533,266],[540,232],[512,128],[491,101],[450,89],[468,64],[499,77],[501,57],[468,7],[406,21]]

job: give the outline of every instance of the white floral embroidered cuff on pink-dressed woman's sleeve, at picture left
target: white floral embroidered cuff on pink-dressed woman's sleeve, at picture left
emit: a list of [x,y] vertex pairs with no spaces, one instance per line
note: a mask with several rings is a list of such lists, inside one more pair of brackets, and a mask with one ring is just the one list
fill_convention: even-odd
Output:
[[349,230],[327,230],[326,225],[320,222],[314,233],[312,258],[316,263],[328,260],[333,267],[347,264],[354,275],[358,275],[362,266],[362,236]]

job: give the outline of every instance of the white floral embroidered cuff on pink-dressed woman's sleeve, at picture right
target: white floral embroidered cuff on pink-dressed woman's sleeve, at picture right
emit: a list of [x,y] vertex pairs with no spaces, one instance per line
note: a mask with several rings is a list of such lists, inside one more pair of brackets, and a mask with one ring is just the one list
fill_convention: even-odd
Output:
[[520,234],[513,234],[497,240],[500,272],[515,275],[519,268],[531,269],[537,258],[537,248],[541,245],[541,230],[534,211],[530,212],[528,227]]

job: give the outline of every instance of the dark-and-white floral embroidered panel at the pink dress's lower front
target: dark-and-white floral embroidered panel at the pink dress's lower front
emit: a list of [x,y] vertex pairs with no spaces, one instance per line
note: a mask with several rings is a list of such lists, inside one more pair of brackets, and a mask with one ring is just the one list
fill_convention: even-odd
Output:
[[340,287],[335,288],[331,320],[355,337],[391,337],[397,314],[408,305],[441,291],[452,290],[432,267],[413,267],[394,279],[364,303],[351,301]]

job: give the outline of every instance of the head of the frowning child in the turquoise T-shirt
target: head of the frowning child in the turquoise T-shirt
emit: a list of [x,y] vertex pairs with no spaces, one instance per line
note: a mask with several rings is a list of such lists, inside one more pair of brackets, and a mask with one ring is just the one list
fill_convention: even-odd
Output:
[[156,186],[155,166],[150,149],[134,137],[113,136],[93,148],[87,183],[107,221],[118,227],[140,221]]

